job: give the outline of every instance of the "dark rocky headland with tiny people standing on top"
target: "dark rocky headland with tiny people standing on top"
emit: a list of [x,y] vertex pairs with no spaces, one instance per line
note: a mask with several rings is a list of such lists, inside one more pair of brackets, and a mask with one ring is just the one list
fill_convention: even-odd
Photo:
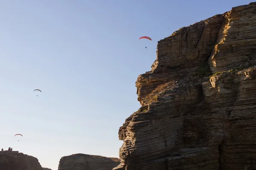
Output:
[[0,170],[43,170],[43,168],[33,156],[0,151]]

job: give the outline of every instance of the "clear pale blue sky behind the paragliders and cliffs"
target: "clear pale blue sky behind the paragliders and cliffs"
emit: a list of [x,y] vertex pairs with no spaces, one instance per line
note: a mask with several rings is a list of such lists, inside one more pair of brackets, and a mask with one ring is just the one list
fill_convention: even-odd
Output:
[[74,153],[118,157],[119,127],[140,108],[135,82],[157,41],[250,2],[1,0],[0,147],[52,170]]

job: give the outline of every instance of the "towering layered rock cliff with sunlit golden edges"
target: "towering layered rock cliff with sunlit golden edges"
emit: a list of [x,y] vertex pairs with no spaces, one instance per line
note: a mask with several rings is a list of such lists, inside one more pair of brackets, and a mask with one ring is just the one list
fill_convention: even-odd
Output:
[[113,170],[256,169],[256,3],[160,40]]

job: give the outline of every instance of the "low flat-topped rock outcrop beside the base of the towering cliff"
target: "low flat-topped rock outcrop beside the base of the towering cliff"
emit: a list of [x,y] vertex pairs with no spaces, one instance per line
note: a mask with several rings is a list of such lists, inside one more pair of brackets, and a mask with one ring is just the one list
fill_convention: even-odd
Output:
[[118,158],[78,153],[62,157],[58,170],[112,170],[118,164]]

